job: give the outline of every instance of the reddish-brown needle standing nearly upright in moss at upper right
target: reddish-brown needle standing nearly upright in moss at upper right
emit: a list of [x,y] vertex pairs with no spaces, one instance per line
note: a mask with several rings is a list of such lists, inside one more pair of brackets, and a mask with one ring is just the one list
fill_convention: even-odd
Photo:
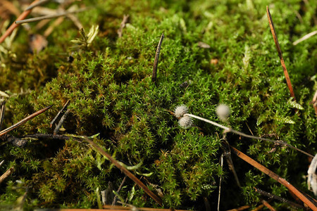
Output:
[[273,25],[273,20],[272,20],[272,17],[271,17],[271,13],[268,10],[268,6],[266,6],[266,14],[268,15],[268,23],[269,23],[270,28],[271,28],[271,32],[272,32],[272,35],[273,35],[273,39],[274,39],[274,42],[275,42],[276,49],[278,50],[278,56],[280,57],[280,63],[282,65],[282,68],[283,68],[283,71],[284,71],[287,87],[288,87],[288,89],[290,89],[290,96],[294,99],[294,101],[296,101],[295,94],[294,94],[293,87],[292,87],[292,83],[290,82],[290,76],[288,75],[288,72],[287,72],[287,69],[286,69],[286,66],[285,66],[285,62],[284,62],[284,59],[282,57],[282,51],[280,50],[280,44],[278,44],[278,37],[276,36],[275,28],[274,28],[274,25]]

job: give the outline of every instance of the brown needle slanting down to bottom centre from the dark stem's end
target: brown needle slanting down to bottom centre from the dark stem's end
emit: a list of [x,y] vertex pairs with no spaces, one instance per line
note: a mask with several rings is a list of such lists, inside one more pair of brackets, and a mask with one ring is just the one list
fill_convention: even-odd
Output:
[[159,203],[159,205],[162,205],[162,200],[161,198],[159,198],[159,196],[156,196],[155,193],[153,193],[152,191],[149,190],[149,188],[147,188],[147,186],[142,183],[142,181],[140,181],[139,179],[137,179],[137,177],[135,177],[134,174],[132,174],[129,170],[127,170],[125,167],[123,167],[122,165],[120,165],[120,163],[115,160],[114,158],[112,158],[111,155],[109,155],[108,153],[106,153],[106,151],[104,151],[101,147],[99,147],[96,143],[94,143],[94,141],[91,141],[89,139],[86,138],[86,141],[88,143],[90,143],[94,149],[96,151],[98,151],[99,153],[101,153],[101,155],[104,155],[106,158],[108,158],[108,160],[110,160],[110,162],[113,163],[113,165],[115,165],[116,167],[118,167],[119,170],[121,170],[121,172],[123,172],[125,175],[127,175],[130,179],[132,179],[132,181],[134,181],[140,188],[142,188],[145,193],[147,193],[151,198],[153,198],[156,203]]

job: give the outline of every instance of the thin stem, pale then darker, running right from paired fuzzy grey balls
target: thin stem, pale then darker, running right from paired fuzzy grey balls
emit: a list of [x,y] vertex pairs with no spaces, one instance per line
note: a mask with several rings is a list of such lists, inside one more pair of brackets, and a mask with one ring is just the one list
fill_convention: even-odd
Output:
[[232,132],[232,133],[234,133],[234,134],[238,134],[238,135],[240,135],[240,136],[247,137],[247,138],[249,138],[249,139],[258,139],[258,140],[262,140],[262,141],[270,141],[270,142],[273,142],[273,143],[278,143],[278,144],[280,144],[280,145],[282,145],[282,146],[288,146],[288,147],[290,147],[290,148],[293,148],[293,149],[296,150],[296,151],[299,151],[299,152],[301,152],[301,153],[303,153],[303,154],[305,154],[305,155],[307,155],[307,156],[313,158],[313,155],[311,155],[311,154],[309,154],[309,153],[306,153],[305,151],[302,151],[302,150],[300,150],[299,148],[296,148],[296,147],[290,145],[289,143],[286,143],[285,141],[275,141],[275,140],[271,140],[271,139],[261,138],[261,137],[258,137],[258,136],[247,135],[247,134],[244,134],[244,133],[242,133],[242,132],[238,132],[237,130],[232,129],[232,128],[230,128],[230,127],[225,127],[225,126],[223,126],[223,125],[221,125],[221,124],[218,124],[218,123],[216,123],[216,122],[213,122],[213,121],[211,121],[211,120],[206,120],[205,118],[199,117],[199,116],[197,116],[197,115],[192,115],[192,114],[189,114],[189,113],[186,113],[184,116],[189,116],[189,117],[193,117],[193,118],[195,118],[195,119],[197,119],[197,120],[201,120],[201,121],[204,121],[204,122],[208,122],[209,124],[213,124],[213,125],[215,125],[215,126],[217,126],[217,127],[220,127],[220,128],[222,128],[222,129],[225,129],[225,132]]

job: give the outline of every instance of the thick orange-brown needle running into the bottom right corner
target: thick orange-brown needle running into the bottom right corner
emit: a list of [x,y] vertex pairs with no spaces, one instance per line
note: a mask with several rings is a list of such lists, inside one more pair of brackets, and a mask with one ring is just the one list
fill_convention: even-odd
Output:
[[242,153],[241,151],[238,151],[236,148],[230,146],[233,153],[235,153],[239,158],[244,160],[245,162],[248,162],[250,165],[256,167],[256,169],[260,170],[264,174],[267,174],[269,177],[275,179],[283,186],[287,187],[292,193],[294,193],[302,202],[304,202],[306,205],[308,205],[312,210],[317,210],[316,205],[314,205],[311,200],[306,198],[300,191],[297,190],[292,184],[290,184],[288,181],[283,179],[282,177],[278,176],[278,174],[275,174],[271,170],[268,170],[268,168],[264,167],[263,165],[259,164],[259,162],[256,162],[252,158],[250,158],[248,155]]

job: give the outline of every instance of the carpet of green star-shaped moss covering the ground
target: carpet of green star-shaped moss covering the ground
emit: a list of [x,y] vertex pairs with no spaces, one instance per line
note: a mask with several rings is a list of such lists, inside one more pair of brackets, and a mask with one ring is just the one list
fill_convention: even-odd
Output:
[[[247,134],[250,129],[257,136],[273,134],[273,139],[278,137],[314,155],[317,118],[310,102],[317,88],[316,36],[297,46],[292,42],[316,30],[316,2],[76,4],[92,6],[77,15],[86,32],[99,25],[91,46],[72,49],[70,41],[80,34],[70,20],[65,20],[48,37],[44,51],[30,54],[27,32],[20,27],[11,46],[16,58],[4,56],[1,61],[0,90],[9,95],[4,128],[53,105],[11,135],[51,133],[49,122],[70,100],[71,115],[62,133],[99,133],[94,141],[117,160],[127,165],[142,162],[137,172],[152,173],[147,181],[163,192],[164,207],[203,210],[204,198],[216,207],[220,174],[225,175],[221,210],[259,203],[261,196],[254,187],[292,200],[285,187],[232,155],[242,184],[238,188],[227,165],[220,168],[222,130],[198,121],[194,124],[204,134],[197,127],[182,129],[168,110],[185,104],[190,113],[219,121],[215,109],[218,103],[225,103],[232,110],[228,126]],[[273,16],[297,103],[304,108],[298,113],[268,26],[266,5]],[[116,30],[125,14],[130,18],[123,37],[118,38]],[[151,71],[162,32],[165,39],[155,85]],[[210,48],[200,48],[199,41]],[[68,62],[70,55],[73,63]],[[213,59],[218,63],[211,63]],[[184,82],[187,87],[182,86]],[[237,135],[229,135],[228,141],[311,194],[304,178],[309,165],[306,156],[279,146],[272,151],[272,143]],[[1,205],[15,203],[27,187],[27,209],[97,207],[97,188],[104,190],[111,182],[117,190],[125,176],[87,144],[73,140],[30,139],[24,148],[6,143],[0,151],[0,160],[5,160],[1,172],[15,167],[11,177],[0,185]],[[129,179],[118,194],[135,206],[158,207]],[[278,201],[271,201],[271,205],[287,207]]]

